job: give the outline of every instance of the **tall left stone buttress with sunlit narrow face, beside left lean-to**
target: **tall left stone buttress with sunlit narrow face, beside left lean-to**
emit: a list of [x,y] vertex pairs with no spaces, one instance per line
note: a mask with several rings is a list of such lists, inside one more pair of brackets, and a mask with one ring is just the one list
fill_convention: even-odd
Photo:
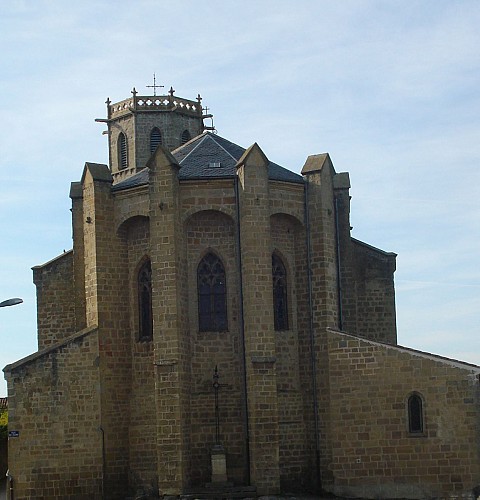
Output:
[[101,426],[105,436],[105,485],[119,498],[128,485],[129,335],[128,251],[113,224],[114,201],[106,166],[87,165],[83,176],[86,318],[98,325]]

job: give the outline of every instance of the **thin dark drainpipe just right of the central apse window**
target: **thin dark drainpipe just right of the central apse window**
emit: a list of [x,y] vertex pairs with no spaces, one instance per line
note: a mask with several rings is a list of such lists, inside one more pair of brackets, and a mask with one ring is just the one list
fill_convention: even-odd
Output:
[[248,393],[247,393],[247,358],[245,347],[245,326],[243,322],[243,275],[242,275],[242,246],[240,237],[240,198],[238,193],[238,175],[234,179],[235,189],[235,208],[237,215],[237,231],[236,231],[236,246],[238,259],[238,275],[239,275],[239,292],[240,292],[240,343],[242,345],[242,361],[243,361],[243,411],[245,413],[245,453],[247,458],[247,484],[250,486],[250,432],[248,425]]

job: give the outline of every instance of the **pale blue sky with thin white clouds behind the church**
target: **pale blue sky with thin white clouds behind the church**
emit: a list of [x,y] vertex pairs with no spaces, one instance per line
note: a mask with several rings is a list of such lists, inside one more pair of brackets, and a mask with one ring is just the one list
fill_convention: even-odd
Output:
[[[72,247],[105,101],[157,84],[222,137],[350,174],[352,236],[395,252],[398,342],[480,364],[480,2],[0,2],[0,367],[37,350],[31,268]],[[2,377],[3,378],[3,377]],[[6,385],[0,378],[0,397]]]

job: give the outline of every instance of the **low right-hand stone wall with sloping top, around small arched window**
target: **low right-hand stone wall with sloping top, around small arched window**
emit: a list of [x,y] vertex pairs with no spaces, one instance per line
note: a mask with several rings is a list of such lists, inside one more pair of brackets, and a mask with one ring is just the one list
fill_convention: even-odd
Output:
[[[480,367],[328,332],[333,492],[470,498],[480,483]],[[409,434],[420,394],[424,433]]]

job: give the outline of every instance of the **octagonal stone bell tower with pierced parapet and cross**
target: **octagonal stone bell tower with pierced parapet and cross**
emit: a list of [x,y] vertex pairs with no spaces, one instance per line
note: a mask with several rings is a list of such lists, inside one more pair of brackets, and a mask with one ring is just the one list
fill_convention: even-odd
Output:
[[152,95],[138,95],[135,88],[132,96],[112,103],[107,99],[107,119],[97,122],[107,124],[109,167],[113,182],[117,183],[142,170],[154,153],[162,145],[172,151],[185,144],[204,130],[213,130],[203,123],[202,98],[196,100],[175,96],[170,87],[168,94],[156,95],[160,85],[154,84]]

